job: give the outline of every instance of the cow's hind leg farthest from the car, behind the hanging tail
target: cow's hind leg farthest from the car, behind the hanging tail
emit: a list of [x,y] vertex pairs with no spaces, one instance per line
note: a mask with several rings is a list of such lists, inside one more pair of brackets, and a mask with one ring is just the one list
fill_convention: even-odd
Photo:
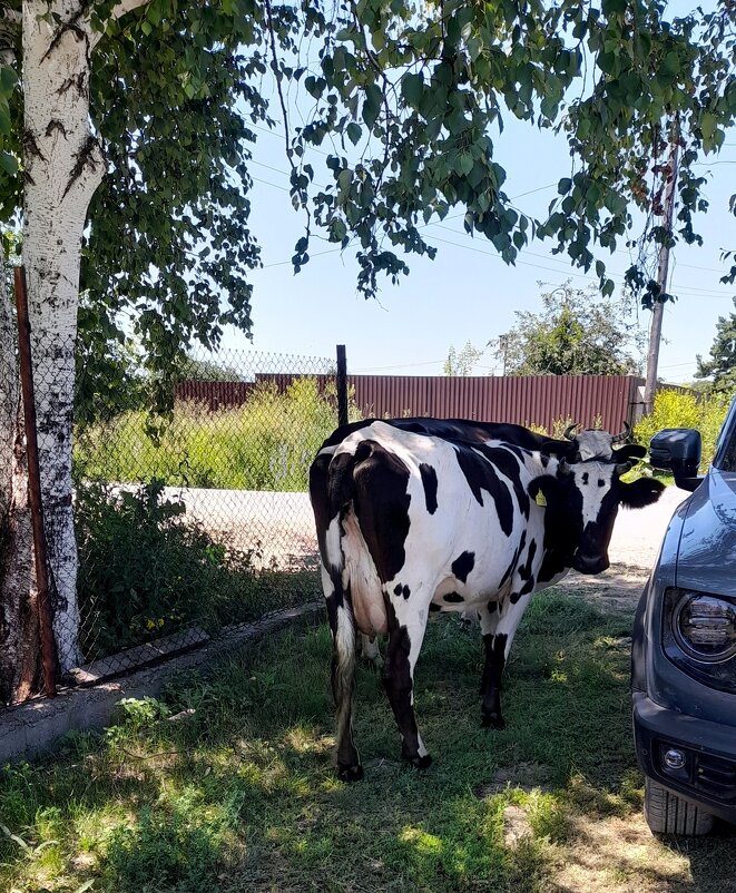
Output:
[[355,690],[355,622],[342,585],[335,586],[322,569],[322,583],[332,631],[332,695],[337,719],[337,775],[343,782],[363,777],[353,740],[353,693]]

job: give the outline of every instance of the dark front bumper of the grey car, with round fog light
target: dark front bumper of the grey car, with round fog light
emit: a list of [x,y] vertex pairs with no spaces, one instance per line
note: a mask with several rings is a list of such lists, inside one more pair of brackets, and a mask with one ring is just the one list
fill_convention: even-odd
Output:
[[[736,729],[660,707],[634,691],[634,736],[645,775],[706,812],[736,824]],[[680,750],[685,764],[663,757]]]

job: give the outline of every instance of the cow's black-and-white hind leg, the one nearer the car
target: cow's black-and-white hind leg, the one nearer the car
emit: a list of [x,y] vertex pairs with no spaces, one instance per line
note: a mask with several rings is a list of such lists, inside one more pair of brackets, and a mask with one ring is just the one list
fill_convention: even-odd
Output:
[[412,605],[412,598],[384,595],[389,647],[383,685],[401,734],[401,755],[416,768],[424,769],[432,757],[422,743],[414,718],[414,666],[426,629],[428,608],[416,607],[418,596]]

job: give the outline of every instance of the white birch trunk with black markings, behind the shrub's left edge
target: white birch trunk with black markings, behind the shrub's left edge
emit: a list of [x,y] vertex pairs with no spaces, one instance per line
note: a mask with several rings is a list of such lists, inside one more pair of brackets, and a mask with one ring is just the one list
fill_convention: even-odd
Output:
[[101,181],[89,122],[92,35],[80,0],[23,2],[23,264],[38,414],[53,629],[61,669],[79,663],[71,422],[81,237]]

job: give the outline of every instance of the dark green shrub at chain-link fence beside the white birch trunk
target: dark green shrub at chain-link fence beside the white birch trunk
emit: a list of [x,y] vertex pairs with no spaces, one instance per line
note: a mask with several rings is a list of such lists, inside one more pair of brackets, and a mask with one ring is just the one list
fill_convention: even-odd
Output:
[[85,656],[102,657],[190,625],[229,619],[228,600],[257,598],[251,556],[227,551],[160,481],[114,493],[77,490],[78,598]]

